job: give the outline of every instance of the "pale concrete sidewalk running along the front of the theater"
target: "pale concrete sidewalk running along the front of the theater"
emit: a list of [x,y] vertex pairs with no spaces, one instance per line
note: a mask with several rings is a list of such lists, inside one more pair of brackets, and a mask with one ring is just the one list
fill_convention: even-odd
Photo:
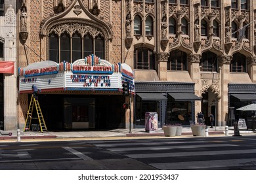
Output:
[[[255,131],[256,132],[256,131]],[[225,135],[225,129],[223,127],[213,127],[208,128],[209,137],[211,135]],[[254,135],[254,131],[247,130],[246,128],[240,128],[240,135]],[[228,135],[234,135],[233,127],[228,127]],[[48,131],[48,132],[34,132],[34,131],[20,131],[20,139],[69,139],[69,138],[104,138],[104,137],[165,137],[163,135],[163,129],[158,129],[154,133],[148,133],[145,129],[111,129],[96,131],[92,129],[91,131]],[[176,137],[193,137],[191,128],[183,127],[182,135]],[[172,138],[172,137],[171,137]],[[0,140],[13,140],[17,139],[17,131],[2,131],[0,130]]]

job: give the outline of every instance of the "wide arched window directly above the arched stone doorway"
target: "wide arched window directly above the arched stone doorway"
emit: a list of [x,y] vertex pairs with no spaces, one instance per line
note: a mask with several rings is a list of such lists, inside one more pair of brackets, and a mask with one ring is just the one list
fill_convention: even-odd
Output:
[[217,55],[213,52],[203,52],[202,58],[200,61],[200,66],[202,67],[202,71],[213,72],[217,71]]

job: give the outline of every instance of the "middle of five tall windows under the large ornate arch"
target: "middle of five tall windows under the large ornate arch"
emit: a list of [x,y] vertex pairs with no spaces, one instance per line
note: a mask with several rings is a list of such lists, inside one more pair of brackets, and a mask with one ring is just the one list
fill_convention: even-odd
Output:
[[75,32],[72,37],[72,62],[82,58],[82,40],[81,35]]

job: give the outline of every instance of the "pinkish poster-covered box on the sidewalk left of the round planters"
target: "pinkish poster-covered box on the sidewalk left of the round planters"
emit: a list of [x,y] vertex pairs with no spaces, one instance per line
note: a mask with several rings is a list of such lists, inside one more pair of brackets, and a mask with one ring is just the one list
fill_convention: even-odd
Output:
[[145,113],[145,130],[149,133],[158,131],[158,113],[146,112]]

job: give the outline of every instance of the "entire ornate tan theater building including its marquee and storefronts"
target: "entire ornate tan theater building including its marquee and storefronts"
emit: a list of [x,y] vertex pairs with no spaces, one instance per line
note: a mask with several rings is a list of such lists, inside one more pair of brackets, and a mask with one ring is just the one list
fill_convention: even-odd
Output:
[[144,127],[145,112],[158,112],[159,127],[190,124],[200,111],[206,123],[211,112],[226,125],[230,107],[256,101],[255,7],[253,0],[24,0],[16,18],[18,122],[35,84],[49,130],[127,128],[121,84],[129,80],[133,127]]

